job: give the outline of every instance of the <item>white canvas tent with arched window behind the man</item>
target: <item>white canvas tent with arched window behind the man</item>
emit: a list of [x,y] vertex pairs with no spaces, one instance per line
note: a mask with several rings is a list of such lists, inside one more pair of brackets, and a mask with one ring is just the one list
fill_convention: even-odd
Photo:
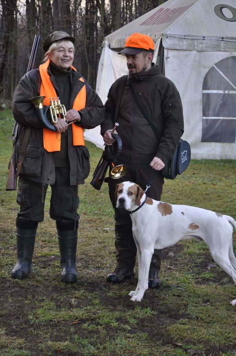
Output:
[[[125,39],[145,33],[163,49],[166,77],[176,85],[184,110],[183,137],[192,158],[236,157],[236,1],[168,0],[105,38],[96,91],[103,103],[114,80],[127,74],[118,55]],[[103,147],[100,127],[85,138]]]

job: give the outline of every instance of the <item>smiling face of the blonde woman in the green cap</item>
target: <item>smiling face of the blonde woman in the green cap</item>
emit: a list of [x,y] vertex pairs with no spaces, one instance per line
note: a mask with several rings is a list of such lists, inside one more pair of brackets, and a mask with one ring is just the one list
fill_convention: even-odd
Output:
[[53,52],[48,53],[48,58],[58,68],[66,70],[70,68],[74,60],[74,49],[61,45],[59,48],[54,49]]

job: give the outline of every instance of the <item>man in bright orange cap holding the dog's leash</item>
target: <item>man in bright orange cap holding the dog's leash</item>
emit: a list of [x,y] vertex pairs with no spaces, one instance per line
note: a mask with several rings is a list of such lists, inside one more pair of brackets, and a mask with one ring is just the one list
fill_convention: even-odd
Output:
[[[129,180],[142,189],[153,179],[146,194],[160,200],[164,183],[161,169],[172,157],[179,138],[183,134],[183,110],[181,99],[171,80],[161,74],[159,66],[152,63],[154,42],[149,36],[133,33],[125,42],[124,49],[118,54],[125,54],[129,75],[123,89],[117,118],[114,117],[120,80],[117,79],[108,93],[105,120],[101,125],[101,134],[106,145],[114,142],[111,130],[114,120],[119,126],[118,133],[122,140],[122,151],[117,157],[117,164],[124,164],[128,173],[119,179],[109,178],[109,195],[114,207],[115,248],[117,266],[109,273],[108,282],[121,282],[134,276],[136,246],[132,235],[132,222],[128,213],[122,214],[114,204],[116,184]],[[133,88],[141,110],[135,101],[130,86]],[[155,129],[152,130],[144,114],[149,117]],[[159,270],[161,250],[155,250],[149,270],[149,288],[159,288]]]

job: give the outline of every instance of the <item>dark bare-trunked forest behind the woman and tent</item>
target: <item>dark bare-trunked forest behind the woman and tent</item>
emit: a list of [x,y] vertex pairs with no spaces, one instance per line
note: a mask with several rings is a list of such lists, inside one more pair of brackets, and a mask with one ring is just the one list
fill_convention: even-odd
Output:
[[44,40],[53,31],[76,38],[73,66],[95,89],[104,37],[165,1],[0,0],[0,101],[11,100],[26,73],[34,36],[41,36],[37,68]]

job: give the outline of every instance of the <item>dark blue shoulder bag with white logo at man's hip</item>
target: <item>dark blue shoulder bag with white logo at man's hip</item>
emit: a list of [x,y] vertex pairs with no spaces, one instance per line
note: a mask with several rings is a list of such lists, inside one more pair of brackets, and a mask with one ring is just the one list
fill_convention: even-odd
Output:
[[173,157],[168,161],[161,170],[163,178],[175,179],[177,174],[182,174],[189,166],[191,158],[191,148],[187,141],[179,139],[179,144],[173,154]]

